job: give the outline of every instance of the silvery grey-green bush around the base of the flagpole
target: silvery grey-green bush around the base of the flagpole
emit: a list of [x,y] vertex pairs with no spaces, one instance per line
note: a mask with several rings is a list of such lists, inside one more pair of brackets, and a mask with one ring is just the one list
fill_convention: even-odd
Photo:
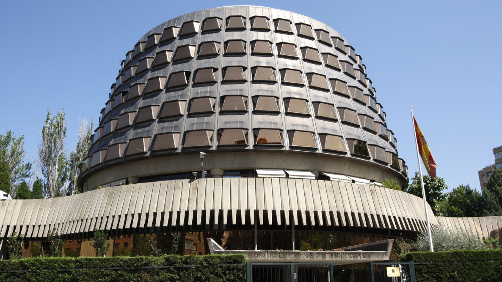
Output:
[[[449,250],[479,250],[487,249],[488,246],[473,233],[457,229],[455,231],[447,230],[439,224],[437,229],[432,230],[432,245],[435,251]],[[422,232],[412,243],[415,251],[429,250],[429,236],[427,232]]]

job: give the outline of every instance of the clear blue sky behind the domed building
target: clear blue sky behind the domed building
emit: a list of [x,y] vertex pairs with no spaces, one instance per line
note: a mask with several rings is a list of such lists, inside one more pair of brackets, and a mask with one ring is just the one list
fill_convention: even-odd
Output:
[[[177,5],[174,3],[178,3]],[[119,63],[139,38],[179,15],[228,5],[289,10],[326,23],[361,54],[410,175],[418,170],[409,106],[451,188],[502,145],[502,1],[2,1],[0,133],[37,154],[47,109],[97,122]]]

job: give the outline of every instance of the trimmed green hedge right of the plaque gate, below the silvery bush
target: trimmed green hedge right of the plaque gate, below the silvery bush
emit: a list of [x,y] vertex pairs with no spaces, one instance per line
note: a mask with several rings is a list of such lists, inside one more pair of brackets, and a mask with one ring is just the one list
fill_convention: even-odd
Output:
[[500,281],[502,249],[410,252],[401,262],[413,261],[417,281]]

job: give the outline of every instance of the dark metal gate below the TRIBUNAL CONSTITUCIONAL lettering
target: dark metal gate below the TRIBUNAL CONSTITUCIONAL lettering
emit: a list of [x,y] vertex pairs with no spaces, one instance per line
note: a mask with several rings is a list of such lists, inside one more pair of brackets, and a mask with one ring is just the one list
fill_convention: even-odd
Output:
[[249,263],[253,282],[333,282],[332,263]]

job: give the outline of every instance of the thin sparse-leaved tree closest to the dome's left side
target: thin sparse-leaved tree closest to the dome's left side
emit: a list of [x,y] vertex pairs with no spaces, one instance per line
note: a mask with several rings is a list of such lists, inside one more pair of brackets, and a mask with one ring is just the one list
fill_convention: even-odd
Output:
[[[92,127],[94,124],[87,121],[87,119],[82,118],[78,123],[78,141],[75,151],[70,153],[69,160],[69,177],[70,177],[70,187],[69,192],[71,195],[77,193],[77,178],[80,174],[80,164],[87,157],[90,147],[92,145],[91,135]],[[84,167],[82,167],[85,170]]]

